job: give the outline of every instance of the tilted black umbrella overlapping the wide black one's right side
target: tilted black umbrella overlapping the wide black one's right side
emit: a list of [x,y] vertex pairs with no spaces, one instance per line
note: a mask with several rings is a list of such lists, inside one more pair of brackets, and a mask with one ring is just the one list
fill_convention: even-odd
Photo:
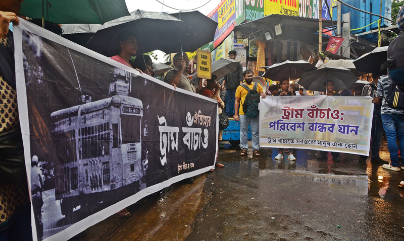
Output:
[[176,38],[181,40],[184,52],[194,52],[214,40],[218,23],[200,12],[179,12],[170,15],[182,21],[184,31],[176,35]]

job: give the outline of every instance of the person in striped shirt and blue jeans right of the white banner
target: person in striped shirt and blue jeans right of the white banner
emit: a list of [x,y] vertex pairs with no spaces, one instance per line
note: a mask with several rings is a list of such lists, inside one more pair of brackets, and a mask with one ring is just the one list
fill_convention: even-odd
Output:
[[[380,114],[383,123],[383,129],[386,132],[387,147],[390,152],[390,164],[383,164],[384,169],[400,171],[398,163],[398,149],[404,153],[404,110],[393,108],[386,103],[385,96],[388,93],[392,81],[388,75],[383,75],[377,83],[377,98],[373,103],[382,103]],[[399,146],[397,146],[397,139]],[[404,170],[404,158],[401,158],[401,169]]]

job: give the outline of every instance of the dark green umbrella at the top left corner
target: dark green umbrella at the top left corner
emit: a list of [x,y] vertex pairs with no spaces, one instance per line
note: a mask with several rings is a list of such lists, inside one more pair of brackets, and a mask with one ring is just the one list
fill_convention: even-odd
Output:
[[125,0],[24,0],[20,14],[57,24],[104,24],[130,15]]

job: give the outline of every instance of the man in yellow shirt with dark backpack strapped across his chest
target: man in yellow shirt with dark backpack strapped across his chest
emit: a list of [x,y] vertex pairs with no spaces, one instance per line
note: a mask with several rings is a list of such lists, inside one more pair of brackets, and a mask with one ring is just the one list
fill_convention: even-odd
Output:
[[[252,83],[252,70],[245,70],[243,76],[245,83],[237,87],[236,102],[234,104],[234,120],[240,121],[240,155],[246,155],[248,149],[247,131],[251,127],[252,154],[260,156],[260,110],[258,104],[260,97],[266,95],[258,83]],[[241,105],[240,105],[241,102]]]

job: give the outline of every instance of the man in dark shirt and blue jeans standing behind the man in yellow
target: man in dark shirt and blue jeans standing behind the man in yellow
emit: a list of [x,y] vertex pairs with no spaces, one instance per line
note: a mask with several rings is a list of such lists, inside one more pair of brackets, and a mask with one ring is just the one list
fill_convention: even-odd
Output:
[[[236,59],[237,52],[231,50],[229,58]],[[223,79],[222,90],[226,91],[226,115],[232,117],[234,113],[234,103],[236,100],[236,89],[239,85],[243,84],[243,66],[238,63],[237,67],[228,73]]]

